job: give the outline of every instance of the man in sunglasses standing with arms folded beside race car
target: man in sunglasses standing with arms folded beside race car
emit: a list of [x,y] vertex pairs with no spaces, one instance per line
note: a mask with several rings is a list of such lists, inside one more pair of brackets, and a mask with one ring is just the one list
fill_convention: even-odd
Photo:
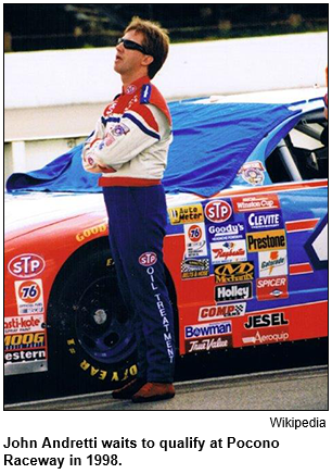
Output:
[[154,401],[175,396],[174,316],[163,263],[166,201],[161,184],[171,120],[150,83],[164,64],[169,39],[157,24],[133,18],[118,40],[114,70],[123,91],[87,140],[82,163],[102,173],[110,245],[119,287],[132,314],[138,377],[113,391],[117,399]]

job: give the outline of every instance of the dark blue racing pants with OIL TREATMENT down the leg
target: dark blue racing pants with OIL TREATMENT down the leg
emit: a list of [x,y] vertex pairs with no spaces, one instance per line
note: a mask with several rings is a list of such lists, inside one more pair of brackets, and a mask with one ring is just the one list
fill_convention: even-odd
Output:
[[110,246],[124,302],[132,317],[138,376],[171,383],[174,314],[165,280],[166,200],[162,185],[103,188]]

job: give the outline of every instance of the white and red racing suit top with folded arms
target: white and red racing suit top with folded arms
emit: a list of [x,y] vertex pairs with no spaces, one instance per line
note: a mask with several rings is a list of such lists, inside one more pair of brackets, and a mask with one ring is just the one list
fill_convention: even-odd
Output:
[[102,173],[99,185],[159,184],[173,140],[165,99],[149,77],[123,88],[104,110],[82,151],[87,172]]

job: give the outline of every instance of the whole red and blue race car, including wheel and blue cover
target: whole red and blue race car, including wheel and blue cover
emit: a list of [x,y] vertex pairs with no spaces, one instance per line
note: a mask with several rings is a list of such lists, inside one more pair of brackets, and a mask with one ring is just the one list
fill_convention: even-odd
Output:
[[[323,95],[210,97],[173,115],[164,255],[178,356],[327,337]],[[137,374],[136,342],[102,195],[77,186],[77,165],[66,177],[73,163],[8,182],[4,374],[114,388]]]

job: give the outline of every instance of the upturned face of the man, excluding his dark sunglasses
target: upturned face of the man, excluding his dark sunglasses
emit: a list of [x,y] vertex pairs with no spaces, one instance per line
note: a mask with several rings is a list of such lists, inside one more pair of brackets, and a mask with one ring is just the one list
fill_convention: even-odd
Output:
[[[143,45],[143,34],[131,29],[127,32],[124,39],[130,39],[131,41]],[[126,49],[124,43],[120,42],[116,47],[116,55],[114,61],[114,71],[120,75],[135,74],[143,66],[142,62],[146,58],[141,51]]]

